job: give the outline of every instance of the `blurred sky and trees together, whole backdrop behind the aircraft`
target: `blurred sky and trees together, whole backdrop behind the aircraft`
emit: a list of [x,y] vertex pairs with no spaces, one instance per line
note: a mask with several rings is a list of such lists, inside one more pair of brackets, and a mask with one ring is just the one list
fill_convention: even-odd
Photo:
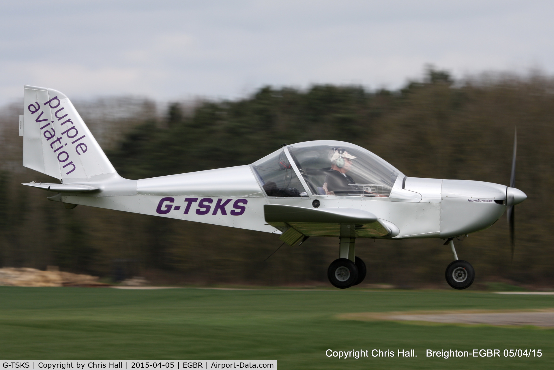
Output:
[[[456,243],[488,282],[551,287],[554,4],[542,1],[0,4],[0,266],[157,284],[328,284],[337,240],[47,201],[21,186],[24,84],[63,91],[121,176],[244,165],[336,139],[411,177],[507,184],[518,131],[516,251],[506,218]],[[446,286],[439,239],[358,240],[368,284]]]

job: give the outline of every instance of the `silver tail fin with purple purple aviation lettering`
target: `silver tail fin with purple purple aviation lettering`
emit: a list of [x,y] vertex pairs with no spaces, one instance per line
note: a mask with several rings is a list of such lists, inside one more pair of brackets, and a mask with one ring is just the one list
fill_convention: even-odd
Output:
[[37,86],[24,91],[23,166],[64,183],[116,172],[67,96]]

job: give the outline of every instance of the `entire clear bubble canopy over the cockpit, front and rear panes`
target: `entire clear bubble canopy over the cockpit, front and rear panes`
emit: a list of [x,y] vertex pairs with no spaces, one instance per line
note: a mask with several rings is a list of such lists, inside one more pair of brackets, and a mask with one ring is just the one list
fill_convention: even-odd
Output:
[[372,152],[333,140],[289,145],[253,163],[268,196],[306,197],[294,167],[312,194],[322,196],[388,197],[400,174]]

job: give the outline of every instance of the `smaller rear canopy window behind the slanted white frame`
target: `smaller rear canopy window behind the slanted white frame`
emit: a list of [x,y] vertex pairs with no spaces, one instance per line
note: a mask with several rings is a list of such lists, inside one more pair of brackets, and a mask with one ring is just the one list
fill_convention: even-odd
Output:
[[252,168],[268,197],[307,197],[283,149],[254,162]]

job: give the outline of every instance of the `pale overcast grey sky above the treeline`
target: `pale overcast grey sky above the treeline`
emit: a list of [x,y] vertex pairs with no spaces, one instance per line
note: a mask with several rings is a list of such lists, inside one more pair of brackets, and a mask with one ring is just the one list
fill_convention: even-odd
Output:
[[70,98],[234,99],[262,85],[398,88],[455,76],[554,72],[554,2],[3,1],[0,102],[23,85]]

